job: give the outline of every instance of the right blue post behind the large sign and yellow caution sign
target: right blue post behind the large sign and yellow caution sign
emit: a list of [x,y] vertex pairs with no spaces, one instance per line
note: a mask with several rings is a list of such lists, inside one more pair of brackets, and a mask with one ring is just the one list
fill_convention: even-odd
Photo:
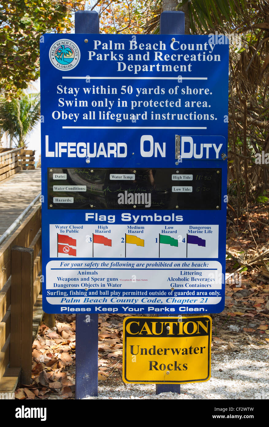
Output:
[[[185,13],[176,11],[162,12],[160,34],[185,34]],[[156,395],[167,392],[180,393],[180,384],[156,384]]]

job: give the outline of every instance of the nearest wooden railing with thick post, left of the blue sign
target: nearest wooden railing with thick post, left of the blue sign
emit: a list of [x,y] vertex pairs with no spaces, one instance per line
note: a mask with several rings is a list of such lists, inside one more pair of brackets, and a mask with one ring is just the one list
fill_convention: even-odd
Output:
[[29,384],[33,307],[40,307],[41,206],[0,249],[0,392],[14,391],[19,374]]

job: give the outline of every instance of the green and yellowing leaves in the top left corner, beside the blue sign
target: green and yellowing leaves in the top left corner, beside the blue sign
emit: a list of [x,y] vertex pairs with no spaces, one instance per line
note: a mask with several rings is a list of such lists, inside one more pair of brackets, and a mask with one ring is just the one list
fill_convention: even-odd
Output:
[[0,92],[26,89],[39,76],[39,38],[45,32],[69,32],[70,12],[85,1],[14,0],[0,4]]

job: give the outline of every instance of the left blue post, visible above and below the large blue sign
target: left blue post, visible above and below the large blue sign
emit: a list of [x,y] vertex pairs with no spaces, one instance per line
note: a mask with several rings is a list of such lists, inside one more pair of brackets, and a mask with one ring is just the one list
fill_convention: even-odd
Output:
[[[98,34],[98,13],[75,12],[75,32]],[[75,397],[98,395],[98,314],[76,315]]]

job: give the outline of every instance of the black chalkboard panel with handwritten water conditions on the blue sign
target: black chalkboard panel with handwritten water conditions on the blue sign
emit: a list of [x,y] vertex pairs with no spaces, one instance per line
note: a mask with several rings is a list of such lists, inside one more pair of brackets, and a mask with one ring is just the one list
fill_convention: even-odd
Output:
[[220,210],[219,169],[48,169],[49,209]]

